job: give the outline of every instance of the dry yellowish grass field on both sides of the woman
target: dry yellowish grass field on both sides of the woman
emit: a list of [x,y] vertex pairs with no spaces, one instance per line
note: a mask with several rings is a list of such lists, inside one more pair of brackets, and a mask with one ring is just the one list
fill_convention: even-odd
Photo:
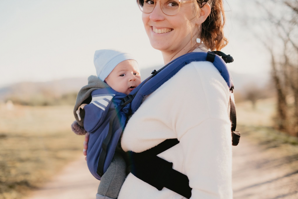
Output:
[[[250,102],[236,102],[237,130],[242,139],[296,162],[298,139],[272,128],[274,104],[274,99],[259,100],[253,109]],[[70,129],[72,106],[2,104],[0,113],[0,199],[23,198],[82,153],[84,137]]]

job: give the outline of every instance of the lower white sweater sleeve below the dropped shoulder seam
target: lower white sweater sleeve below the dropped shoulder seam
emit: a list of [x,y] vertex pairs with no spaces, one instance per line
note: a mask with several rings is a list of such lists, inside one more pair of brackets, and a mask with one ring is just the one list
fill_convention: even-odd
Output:
[[180,139],[191,199],[232,198],[230,124],[207,119]]

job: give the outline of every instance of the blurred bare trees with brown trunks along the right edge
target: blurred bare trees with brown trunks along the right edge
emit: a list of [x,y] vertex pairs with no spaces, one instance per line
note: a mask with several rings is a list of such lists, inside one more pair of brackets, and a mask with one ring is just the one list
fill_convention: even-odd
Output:
[[[254,0],[246,25],[271,56],[277,93],[277,127],[298,136],[298,0]],[[287,96],[294,104],[287,103]]]

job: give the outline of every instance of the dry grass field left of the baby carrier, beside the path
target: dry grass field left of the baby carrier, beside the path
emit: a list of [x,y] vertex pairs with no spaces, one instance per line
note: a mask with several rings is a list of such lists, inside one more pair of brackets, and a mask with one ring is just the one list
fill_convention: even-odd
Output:
[[72,106],[0,105],[0,199],[23,198],[81,153]]

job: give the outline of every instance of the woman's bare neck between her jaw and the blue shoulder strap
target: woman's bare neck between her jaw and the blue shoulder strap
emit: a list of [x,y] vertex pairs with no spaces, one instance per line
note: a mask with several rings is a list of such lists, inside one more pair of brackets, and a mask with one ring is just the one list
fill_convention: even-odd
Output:
[[187,45],[185,45],[183,48],[179,48],[175,51],[162,51],[162,57],[164,58],[164,65],[167,65],[169,62],[171,62],[172,60],[186,54],[189,52],[192,52],[193,50],[195,50],[196,52],[206,52],[207,49],[205,48],[205,46],[203,45],[203,43],[198,44],[195,41],[193,41],[193,43],[195,43],[195,45],[191,45],[192,42],[189,41],[187,43]]

